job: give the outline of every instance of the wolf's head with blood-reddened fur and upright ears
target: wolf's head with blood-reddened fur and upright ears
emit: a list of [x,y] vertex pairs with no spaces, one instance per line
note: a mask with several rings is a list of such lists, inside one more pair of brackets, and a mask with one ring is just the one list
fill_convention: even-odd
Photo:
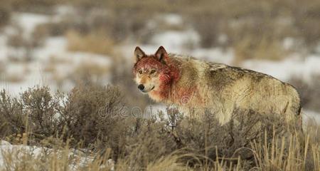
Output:
[[176,77],[177,71],[163,46],[156,53],[146,55],[141,48],[134,50],[134,81],[142,93],[162,92]]

